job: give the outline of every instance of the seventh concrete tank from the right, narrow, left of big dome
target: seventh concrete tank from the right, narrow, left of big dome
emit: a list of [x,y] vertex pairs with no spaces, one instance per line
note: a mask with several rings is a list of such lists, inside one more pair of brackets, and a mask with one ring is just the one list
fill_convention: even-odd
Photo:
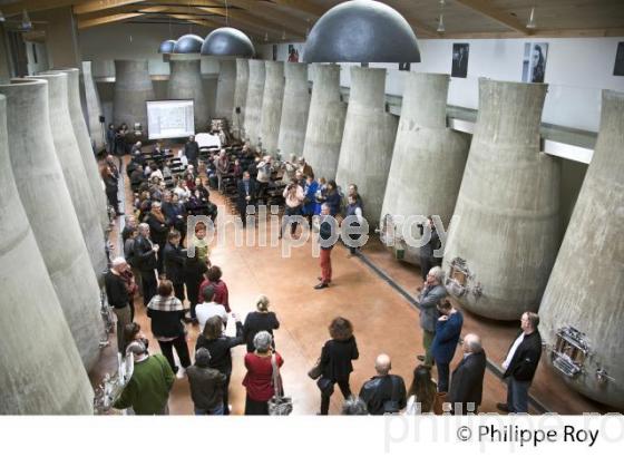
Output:
[[265,61],[264,94],[262,96],[262,119],[260,137],[262,148],[273,156],[277,153],[282,104],[284,101],[284,62]]

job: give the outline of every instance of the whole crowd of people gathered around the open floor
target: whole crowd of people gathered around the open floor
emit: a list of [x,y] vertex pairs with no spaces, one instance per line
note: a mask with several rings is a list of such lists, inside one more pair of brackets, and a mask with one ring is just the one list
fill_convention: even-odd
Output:
[[[260,157],[248,145],[232,156],[226,149],[215,152],[205,163],[191,137],[177,155],[182,158],[179,162],[186,164],[177,175],[169,174],[170,156],[173,154],[159,144],[148,153],[136,144],[127,166],[136,195],[134,211],[125,216],[124,256],[113,260],[105,283],[109,304],[117,317],[119,352],[134,358],[135,371],[115,407],[131,408],[139,415],[167,414],[168,392],[175,378],[186,376],[196,415],[228,415],[235,362],[232,349],[244,346],[244,360],[236,362],[246,368],[243,380],[245,415],[269,415],[272,399],[282,395],[275,381],[285,362],[274,340],[280,320],[270,311],[270,300],[265,295],[257,298],[256,311],[248,313],[244,321],[233,312],[223,271],[211,262],[207,227],[198,223],[194,233],[186,233],[186,217],[197,211],[216,216],[209,187],[224,196],[228,186],[233,187],[237,192],[238,211],[244,215],[250,205],[267,198],[271,186],[281,184],[284,214],[310,218],[319,215],[318,236],[328,240],[331,226],[325,216],[363,216],[358,188],[354,184],[349,186],[347,205],[343,205],[335,182],[315,181],[303,158],[291,157],[289,162],[274,164],[272,157]],[[106,158],[103,169],[116,176],[117,186],[119,169],[111,156]],[[191,203],[193,195],[198,195],[199,202]],[[115,202],[116,197],[117,188]],[[115,206],[113,201],[110,203]],[[117,208],[115,211],[118,213]],[[287,220],[284,221],[282,234],[287,230],[294,235],[296,224],[289,227]],[[436,242],[433,237],[432,243]],[[187,255],[185,245],[195,249],[195,256]],[[333,246],[321,247],[322,274],[315,289],[329,286],[332,280],[330,254]],[[351,249],[350,254],[354,252]],[[425,353],[418,356],[420,363],[413,369],[409,388],[400,376],[391,372],[391,359],[382,353],[376,359],[376,375],[354,395],[350,386],[352,361],[359,358],[354,328],[343,317],[331,321],[330,338],[309,372],[320,390],[320,415],[329,414],[337,385],[344,398],[344,415],[441,414],[443,405],[449,405],[447,410],[451,414],[478,412],[482,402],[486,353],[479,336],[469,333],[461,338],[464,315],[447,299],[443,284],[441,268],[428,269],[417,300]],[[162,354],[150,353],[148,339],[135,321],[135,294],[143,296]],[[537,314],[526,312],[523,315],[520,332],[503,362],[508,398],[498,405],[500,410],[528,411],[528,389],[540,356],[538,324]],[[196,325],[199,332],[195,348],[188,347],[187,325]],[[233,334],[226,334],[232,328]],[[451,373],[450,364],[458,346],[462,358]]]

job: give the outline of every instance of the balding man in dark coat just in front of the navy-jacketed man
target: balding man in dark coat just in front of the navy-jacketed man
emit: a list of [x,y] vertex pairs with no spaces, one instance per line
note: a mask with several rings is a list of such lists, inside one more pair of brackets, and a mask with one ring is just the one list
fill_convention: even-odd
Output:
[[462,348],[464,359],[452,372],[448,399],[455,415],[477,414],[484,393],[486,353],[481,339],[472,333],[464,338]]

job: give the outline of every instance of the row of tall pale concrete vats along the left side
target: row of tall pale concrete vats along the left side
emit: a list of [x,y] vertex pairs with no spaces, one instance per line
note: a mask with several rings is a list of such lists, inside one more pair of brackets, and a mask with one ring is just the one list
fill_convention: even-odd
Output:
[[0,85],[0,414],[92,414],[106,201],[79,70]]

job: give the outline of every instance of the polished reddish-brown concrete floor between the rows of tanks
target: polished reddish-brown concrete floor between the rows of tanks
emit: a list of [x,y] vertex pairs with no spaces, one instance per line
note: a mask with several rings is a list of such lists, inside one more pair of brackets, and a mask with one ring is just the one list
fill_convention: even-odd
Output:
[[[126,191],[129,208],[130,193]],[[211,195],[216,204],[225,204],[216,192]],[[273,230],[276,225],[273,224]],[[286,395],[294,400],[295,415],[314,415],[320,408],[320,395],[315,382],[308,378],[308,370],[320,356],[321,348],[329,339],[328,325],[338,317],[353,322],[360,349],[360,359],[354,362],[351,388],[358,392],[362,383],[374,375],[374,359],[386,352],[392,358],[392,372],[400,375],[409,386],[413,368],[418,364],[417,354],[422,353],[421,332],[417,310],[392,288],[386,280],[373,272],[359,257],[347,256],[348,251],[339,245],[333,250],[332,264],[334,278],[332,286],[316,291],[316,276],[320,273],[319,260],[311,254],[312,243],[292,250],[290,257],[282,256],[281,246],[236,246],[233,227],[226,229],[225,243],[213,243],[211,260],[223,270],[223,279],[230,289],[232,310],[243,320],[254,309],[254,299],[265,294],[271,300],[271,309],[277,314],[281,328],[275,332],[277,351],[285,363],[282,369]],[[113,243],[116,246],[117,243]],[[289,243],[289,241],[284,241]],[[391,276],[399,286],[412,295],[421,284],[418,268],[397,262],[379,242],[371,241],[363,250],[379,269]],[[158,351],[158,344],[150,332],[149,319],[145,315],[142,300],[137,299],[137,321],[150,338],[150,349]],[[518,325],[485,321],[465,313],[462,334],[476,332],[481,336],[488,358],[496,364],[504,359]],[[188,346],[194,350],[197,327],[187,325]],[[231,322],[227,332],[233,333]],[[111,341],[114,338],[111,338]],[[234,371],[230,387],[232,414],[244,410],[245,390],[242,379],[244,347],[233,350]],[[460,360],[460,350],[456,352],[451,370]],[[114,371],[115,350],[104,352],[100,364],[91,373],[97,382],[106,371]],[[548,410],[562,414],[581,414],[601,411],[604,408],[576,392],[569,390],[544,364],[538,370],[530,391]],[[505,383],[491,371],[486,371],[484,402],[480,411],[496,411],[496,402],[506,397]],[[342,396],[337,389],[332,397],[330,414],[338,414]],[[174,415],[193,412],[188,383],[178,379],[169,401]],[[532,412],[536,410],[532,409]]]

